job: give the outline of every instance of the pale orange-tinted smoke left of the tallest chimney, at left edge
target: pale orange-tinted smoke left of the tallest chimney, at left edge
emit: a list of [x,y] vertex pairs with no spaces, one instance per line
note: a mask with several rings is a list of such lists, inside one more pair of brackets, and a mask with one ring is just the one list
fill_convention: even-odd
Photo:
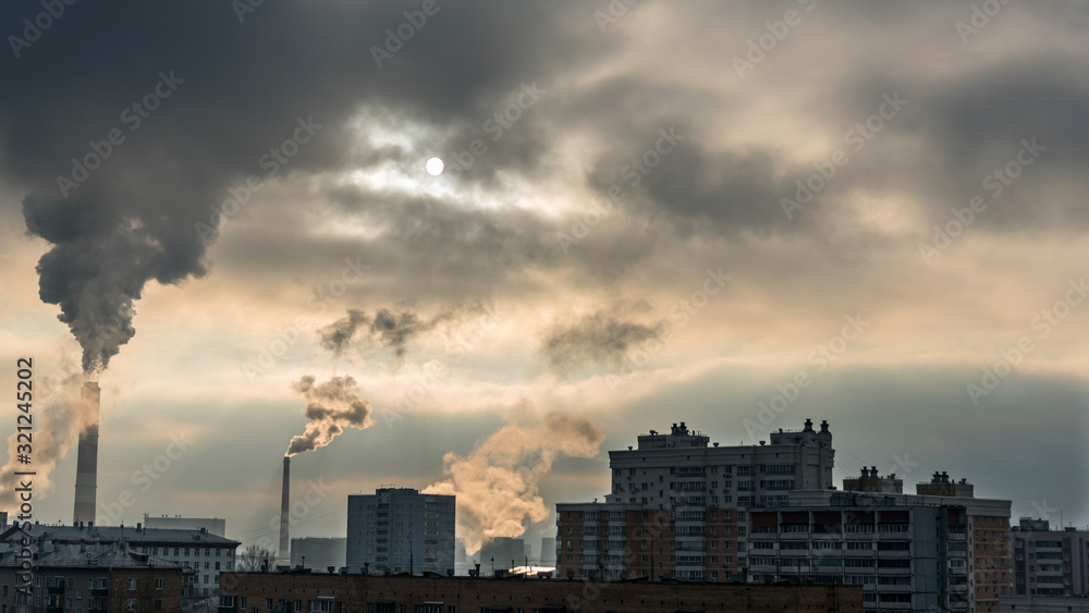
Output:
[[17,441],[17,432],[8,437],[8,463],[0,474],[0,506],[3,508],[19,508],[21,501],[15,495],[15,488],[19,487],[20,477],[15,475],[16,470],[35,471],[33,477],[22,479],[34,481],[36,496],[48,492],[52,488],[49,475],[57,466],[57,461],[75,445],[79,433],[87,426],[94,425],[97,412],[86,404],[83,384],[82,376],[70,376],[58,384],[56,393],[45,405],[34,405],[34,453],[30,454],[34,464],[19,462],[19,445],[26,441]]

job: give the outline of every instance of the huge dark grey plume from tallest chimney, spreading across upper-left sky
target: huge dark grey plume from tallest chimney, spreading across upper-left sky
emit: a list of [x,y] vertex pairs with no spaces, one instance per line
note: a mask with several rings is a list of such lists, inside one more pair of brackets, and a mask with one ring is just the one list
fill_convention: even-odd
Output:
[[[360,107],[475,123],[481,99],[547,78],[560,9],[439,7],[382,70],[370,47],[405,22],[401,3],[267,5],[244,23],[225,3],[72,5],[19,58],[0,54],[19,93],[0,100],[0,169],[27,194],[28,230],[54,245],[38,267],[41,298],[61,306],[87,370],[132,338],[149,281],[205,273],[194,223],[228,186],[264,173],[258,160],[297,120],[328,127],[280,175],[341,163],[342,124]],[[0,21],[38,9],[5,4]],[[144,100],[155,110],[132,108]],[[72,159],[88,155],[86,165],[105,160],[84,177]]]

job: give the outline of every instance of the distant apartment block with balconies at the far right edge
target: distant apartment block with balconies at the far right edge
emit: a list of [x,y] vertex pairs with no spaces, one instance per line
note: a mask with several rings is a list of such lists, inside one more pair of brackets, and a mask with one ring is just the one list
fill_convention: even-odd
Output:
[[1021,517],[1011,537],[1018,596],[1089,593],[1089,531],[1053,530],[1047,519]]

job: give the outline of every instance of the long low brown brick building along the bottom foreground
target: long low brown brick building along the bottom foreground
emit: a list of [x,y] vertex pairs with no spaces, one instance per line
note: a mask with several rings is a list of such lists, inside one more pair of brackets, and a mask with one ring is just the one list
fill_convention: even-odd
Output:
[[861,613],[857,586],[591,583],[535,578],[231,573],[220,613],[629,613],[836,611]]

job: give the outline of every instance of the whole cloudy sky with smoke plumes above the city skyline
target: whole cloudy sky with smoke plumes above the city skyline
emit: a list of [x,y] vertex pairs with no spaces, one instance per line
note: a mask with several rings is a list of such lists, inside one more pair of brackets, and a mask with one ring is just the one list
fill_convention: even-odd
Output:
[[293,536],[396,485],[537,538],[650,429],[812,418],[837,482],[1089,525],[1084,1],[46,4],[0,8],[35,519],[86,377],[110,524],[267,537],[291,444]]

